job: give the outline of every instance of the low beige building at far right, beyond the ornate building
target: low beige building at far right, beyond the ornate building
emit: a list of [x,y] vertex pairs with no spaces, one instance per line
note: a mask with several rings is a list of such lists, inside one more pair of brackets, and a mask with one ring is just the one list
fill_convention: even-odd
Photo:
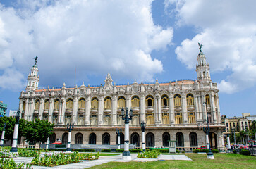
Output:
[[250,113],[242,113],[241,117],[226,118],[226,115],[221,116],[221,122],[226,125],[224,134],[231,132],[240,132],[249,128],[252,122],[256,120],[256,115],[250,115]]

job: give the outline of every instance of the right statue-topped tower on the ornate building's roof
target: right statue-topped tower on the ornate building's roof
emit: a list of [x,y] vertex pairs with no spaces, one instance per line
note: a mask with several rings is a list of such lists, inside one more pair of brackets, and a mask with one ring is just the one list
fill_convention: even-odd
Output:
[[199,45],[199,54],[197,56],[197,66],[195,71],[197,72],[197,81],[199,82],[211,82],[211,76],[209,74],[209,64],[206,63],[205,54],[202,53],[202,44]]

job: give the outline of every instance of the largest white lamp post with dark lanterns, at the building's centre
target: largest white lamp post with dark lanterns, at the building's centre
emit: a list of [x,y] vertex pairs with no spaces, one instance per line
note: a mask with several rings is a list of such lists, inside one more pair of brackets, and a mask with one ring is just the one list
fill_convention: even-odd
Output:
[[126,108],[126,114],[124,113],[124,109],[122,108],[121,115],[125,123],[123,160],[131,160],[130,151],[129,151],[129,121],[132,120],[133,118],[133,110],[130,109],[130,117],[129,117],[128,108]]

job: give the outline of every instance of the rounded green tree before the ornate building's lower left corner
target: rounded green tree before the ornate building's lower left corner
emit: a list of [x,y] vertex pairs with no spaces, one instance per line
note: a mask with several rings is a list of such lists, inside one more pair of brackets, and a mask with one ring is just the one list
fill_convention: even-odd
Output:
[[[28,122],[24,127],[23,136],[28,142],[47,142],[47,138],[52,134],[54,124],[47,120],[35,119],[35,121]],[[34,146],[35,146],[34,144]]]

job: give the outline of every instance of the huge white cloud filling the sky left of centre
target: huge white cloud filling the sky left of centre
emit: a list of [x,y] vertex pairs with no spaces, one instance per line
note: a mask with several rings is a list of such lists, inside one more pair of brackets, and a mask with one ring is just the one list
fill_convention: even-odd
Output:
[[[163,65],[150,54],[171,45],[173,29],[154,25],[151,5],[152,1],[92,0],[1,5],[0,70],[27,75],[32,58],[38,56],[42,86],[73,79],[75,68],[78,80],[106,73],[152,80]],[[21,76],[18,80],[25,82]]]

